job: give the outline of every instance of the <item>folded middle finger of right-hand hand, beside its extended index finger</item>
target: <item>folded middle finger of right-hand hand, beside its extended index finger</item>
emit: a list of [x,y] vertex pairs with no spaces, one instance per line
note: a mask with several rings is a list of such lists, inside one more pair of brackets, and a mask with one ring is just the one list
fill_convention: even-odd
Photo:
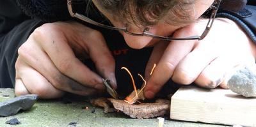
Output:
[[[179,84],[191,84],[204,68],[218,55],[213,45],[200,42],[175,68],[172,80]],[[200,62],[199,62],[200,61]]]

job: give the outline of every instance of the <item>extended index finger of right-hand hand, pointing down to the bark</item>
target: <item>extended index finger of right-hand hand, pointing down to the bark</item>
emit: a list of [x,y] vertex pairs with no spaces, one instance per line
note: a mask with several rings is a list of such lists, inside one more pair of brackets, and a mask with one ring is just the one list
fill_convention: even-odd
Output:
[[170,77],[172,77],[175,67],[193,49],[194,44],[195,41],[170,42],[148,80],[148,84],[145,87],[146,98],[153,98]]

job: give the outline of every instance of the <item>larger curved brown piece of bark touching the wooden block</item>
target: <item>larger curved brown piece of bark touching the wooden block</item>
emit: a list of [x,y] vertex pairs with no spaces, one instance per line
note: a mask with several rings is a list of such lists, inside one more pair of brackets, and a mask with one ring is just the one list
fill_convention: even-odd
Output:
[[132,118],[151,118],[157,116],[164,116],[170,112],[170,100],[157,99],[155,103],[140,103],[138,105],[131,105],[124,100],[115,100],[109,98],[113,106],[124,114]]

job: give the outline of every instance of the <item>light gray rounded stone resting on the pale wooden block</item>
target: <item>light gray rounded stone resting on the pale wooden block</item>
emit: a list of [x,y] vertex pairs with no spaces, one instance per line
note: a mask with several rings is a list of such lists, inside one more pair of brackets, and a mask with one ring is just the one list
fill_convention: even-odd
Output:
[[227,85],[231,91],[245,97],[256,98],[256,69],[253,66],[239,66],[232,72]]

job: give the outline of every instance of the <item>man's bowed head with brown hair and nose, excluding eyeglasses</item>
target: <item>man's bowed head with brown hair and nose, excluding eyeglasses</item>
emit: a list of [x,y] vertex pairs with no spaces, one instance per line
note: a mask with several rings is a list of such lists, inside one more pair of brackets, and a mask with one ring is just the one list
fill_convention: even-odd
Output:
[[[116,27],[127,27],[132,33],[170,36],[180,27],[195,22],[214,0],[92,0],[99,11]],[[154,44],[147,36],[131,36],[122,32],[127,44],[141,49]]]

